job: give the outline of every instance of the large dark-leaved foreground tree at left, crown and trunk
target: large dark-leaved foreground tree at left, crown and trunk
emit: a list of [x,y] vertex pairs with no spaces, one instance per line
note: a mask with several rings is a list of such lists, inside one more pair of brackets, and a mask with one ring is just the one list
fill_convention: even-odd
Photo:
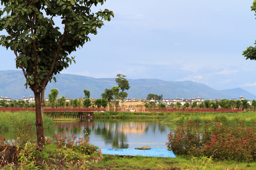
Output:
[[[0,44],[14,51],[16,67],[21,68],[26,86],[33,91],[36,103],[37,144],[45,145],[41,104],[44,90],[54,75],[74,61],[71,52],[90,41],[104,20],[110,21],[113,12],[91,12],[93,5],[105,0],[1,0]],[[5,16],[3,16],[3,14]],[[61,20],[59,26],[55,26]],[[43,107],[43,106],[42,106]]]

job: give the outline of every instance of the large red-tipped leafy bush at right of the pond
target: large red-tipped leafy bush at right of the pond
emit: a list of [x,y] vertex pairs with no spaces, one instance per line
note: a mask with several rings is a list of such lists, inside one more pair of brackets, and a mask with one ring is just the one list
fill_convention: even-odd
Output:
[[225,125],[220,121],[207,121],[200,131],[200,123],[193,120],[177,127],[168,135],[168,150],[189,156],[212,156],[218,160],[255,161],[256,126]]

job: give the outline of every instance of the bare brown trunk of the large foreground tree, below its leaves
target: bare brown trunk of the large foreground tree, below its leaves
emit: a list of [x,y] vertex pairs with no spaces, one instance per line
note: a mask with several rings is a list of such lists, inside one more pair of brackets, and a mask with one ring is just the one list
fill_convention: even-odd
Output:
[[40,92],[34,92],[36,101],[36,127],[37,127],[37,145],[39,150],[45,145],[45,135],[43,127],[43,118],[41,114],[41,95]]

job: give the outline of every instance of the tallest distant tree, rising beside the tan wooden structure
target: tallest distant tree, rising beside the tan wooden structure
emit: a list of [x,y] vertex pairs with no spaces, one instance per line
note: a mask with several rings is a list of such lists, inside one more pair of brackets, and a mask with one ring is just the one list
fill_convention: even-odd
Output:
[[119,89],[121,89],[122,92],[119,93],[119,96],[122,99],[122,102],[124,102],[124,98],[128,96],[124,90],[128,90],[130,88],[128,80],[125,78],[125,75],[117,74],[116,83],[118,84]]

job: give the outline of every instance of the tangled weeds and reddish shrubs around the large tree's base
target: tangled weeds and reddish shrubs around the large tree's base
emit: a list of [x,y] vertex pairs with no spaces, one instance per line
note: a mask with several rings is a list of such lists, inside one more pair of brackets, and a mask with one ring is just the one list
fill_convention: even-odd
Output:
[[46,146],[41,152],[33,141],[33,134],[29,138],[25,137],[28,139],[25,144],[24,139],[19,138],[12,141],[13,145],[0,136],[0,167],[6,170],[88,169],[90,162],[98,162],[102,158],[90,156],[96,147],[89,143],[90,136],[86,130],[84,136],[78,139],[73,134],[69,135],[69,131],[64,131],[52,138],[46,137]]

